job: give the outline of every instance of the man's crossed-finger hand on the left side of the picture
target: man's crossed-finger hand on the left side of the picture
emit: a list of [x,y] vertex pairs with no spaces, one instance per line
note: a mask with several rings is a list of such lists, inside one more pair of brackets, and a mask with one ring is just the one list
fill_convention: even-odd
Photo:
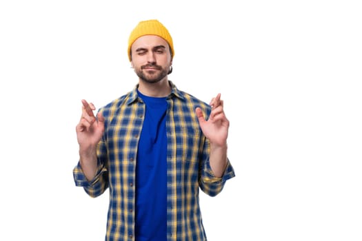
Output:
[[81,101],[82,114],[76,132],[80,150],[95,149],[104,132],[104,117],[101,113],[95,118],[93,111],[96,109],[92,103],[86,100]]

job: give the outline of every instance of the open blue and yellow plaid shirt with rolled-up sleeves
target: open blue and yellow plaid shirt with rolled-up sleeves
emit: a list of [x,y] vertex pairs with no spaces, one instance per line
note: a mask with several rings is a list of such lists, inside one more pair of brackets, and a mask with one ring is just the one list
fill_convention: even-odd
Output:
[[[216,196],[225,181],[234,177],[228,161],[222,178],[214,176],[209,163],[210,143],[201,132],[194,112],[201,107],[209,116],[210,105],[181,92],[170,81],[167,97],[167,237],[168,240],[207,240],[199,207],[199,188]],[[83,175],[80,164],[73,169],[75,185],[97,197],[109,187],[105,240],[134,240],[136,157],[145,116],[145,104],[132,92],[112,101],[99,112],[105,117],[105,132],[97,148],[98,171],[93,180]]]

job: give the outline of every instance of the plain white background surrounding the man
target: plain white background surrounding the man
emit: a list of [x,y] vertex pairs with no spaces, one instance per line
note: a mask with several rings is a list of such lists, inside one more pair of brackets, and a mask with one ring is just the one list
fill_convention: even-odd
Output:
[[103,240],[108,193],[75,187],[81,98],[137,83],[132,28],[159,19],[181,90],[230,119],[236,177],[201,194],[208,240],[362,240],[359,1],[1,1],[0,240]]

